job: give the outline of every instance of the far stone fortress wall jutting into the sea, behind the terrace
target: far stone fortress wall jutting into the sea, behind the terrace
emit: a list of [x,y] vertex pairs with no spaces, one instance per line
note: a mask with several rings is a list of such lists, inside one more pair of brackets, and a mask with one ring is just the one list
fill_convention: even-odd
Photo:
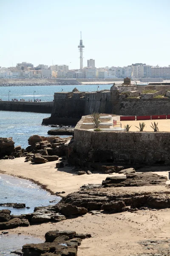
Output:
[[[142,90],[159,90],[165,93],[170,86],[118,86],[118,90],[96,92],[54,93],[54,107],[51,118],[77,118],[91,114],[112,113],[119,115],[161,115],[170,114],[170,99],[128,98],[141,95]],[[122,94],[121,94],[122,93]],[[168,95],[167,95],[168,96]]]

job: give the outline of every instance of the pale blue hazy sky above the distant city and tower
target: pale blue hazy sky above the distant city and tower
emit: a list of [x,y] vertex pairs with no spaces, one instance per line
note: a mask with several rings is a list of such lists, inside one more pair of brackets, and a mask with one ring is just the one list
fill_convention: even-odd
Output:
[[170,0],[0,0],[0,66],[170,64]]

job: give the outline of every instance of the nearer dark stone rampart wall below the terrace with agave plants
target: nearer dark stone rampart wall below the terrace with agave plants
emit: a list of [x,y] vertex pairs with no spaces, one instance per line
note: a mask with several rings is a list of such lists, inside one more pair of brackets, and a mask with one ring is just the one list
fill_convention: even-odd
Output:
[[74,142],[68,150],[73,165],[170,164],[170,132],[95,132],[81,128],[82,122],[83,117],[74,129]]

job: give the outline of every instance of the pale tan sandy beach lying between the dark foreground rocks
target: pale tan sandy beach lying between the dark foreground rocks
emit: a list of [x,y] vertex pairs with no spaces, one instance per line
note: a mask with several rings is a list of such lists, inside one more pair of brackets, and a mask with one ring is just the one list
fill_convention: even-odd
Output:
[[[88,183],[101,183],[108,175],[92,174],[74,176],[70,167],[60,170],[55,162],[43,165],[24,163],[24,158],[0,160],[0,172],[17,177],[33,179],[47,185],[52,192],[65,191],[64,195],[77,191]],[[159,172],[168,175],[168,171]],[[116,174],[117,175],[117,174]],[[159,186],[160,187],[160,186]],[[152,189],[150,187],[150,189]],[[130,189],[129,189],[130,191]],[[8,230],[9,233],[21,233],[44,239],[49,230],[74,230],[77,233],[91,233],[90,239],[82,241],[78,256],[135,256],[148,253],[146,247],[139,244],[147,239],[168,239],[170,235],[170,209],[139,210],[115,214],[86,215],[68,218],[58,223],[43,223],[29,227],[18,227]],[[152,253],[154,251],[152,250]]]

